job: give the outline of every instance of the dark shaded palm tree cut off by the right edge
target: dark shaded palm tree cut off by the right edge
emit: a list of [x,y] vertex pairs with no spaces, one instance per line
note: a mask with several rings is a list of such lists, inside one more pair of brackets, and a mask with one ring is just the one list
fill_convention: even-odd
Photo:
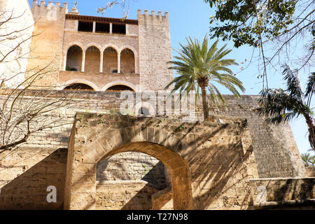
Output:
[[306,92],[303,93],[298,71],[292,71],[287,64],[282,67],[287,89],[262,90],[258,112],[269,117],[266,119],[268,123],[276,125],[303,116],[309,127],[309,143],[315,150],[315,120],[314,112],[310,108],[311,97],[315,93],[315,72],[309,75]]

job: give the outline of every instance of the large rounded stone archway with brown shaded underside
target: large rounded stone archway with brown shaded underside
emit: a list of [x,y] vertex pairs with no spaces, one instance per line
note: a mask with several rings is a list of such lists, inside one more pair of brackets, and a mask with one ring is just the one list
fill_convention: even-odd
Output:
[[[106,123],[100,120],[94,121]],[[64,209],[94,209],[97,162],[123,152],[146,153],[160,160],[171,172],[174,209],[193,209],[190,169],[177,152],[188,147],[181,139],[163,130],[119,125],[103,125],[102,130],[92,134],[93,129],[80,126],[81,122],[77,117],[69,140]]]

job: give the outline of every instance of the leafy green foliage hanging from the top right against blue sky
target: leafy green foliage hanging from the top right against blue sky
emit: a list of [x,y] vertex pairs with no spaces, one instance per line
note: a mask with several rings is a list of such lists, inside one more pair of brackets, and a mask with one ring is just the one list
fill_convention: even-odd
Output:
[[211,38],[232,39],[236,48],[245,44],[258,47],[260,32],[267,39],[286,33],[289,25],[293,24],[297,3],[297,0],[204,1],[211,8],[216,7],[216,15],[210,16]]

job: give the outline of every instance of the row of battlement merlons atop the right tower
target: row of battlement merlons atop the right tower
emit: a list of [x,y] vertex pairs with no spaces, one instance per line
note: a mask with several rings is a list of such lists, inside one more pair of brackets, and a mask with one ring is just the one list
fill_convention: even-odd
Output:
[[145,25],[160,25],[161,23],[169,26],[169,13],[165,12],[165,15],[162,15],[161,11],[158,11],[158,15],[155,14],[155,10],[151,10],[151,15],[149,15],[148,10],[144,10],[142,14],[141,9],[138,9],[138,21],[139,24]]

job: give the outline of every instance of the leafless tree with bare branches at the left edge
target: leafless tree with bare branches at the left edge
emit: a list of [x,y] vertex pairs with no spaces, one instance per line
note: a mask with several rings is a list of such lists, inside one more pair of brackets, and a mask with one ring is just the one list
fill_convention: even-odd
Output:
[[52,62],[39,69],[15,69],[29,59],[27,45],[35,36],[30,31],[34,24],[19,26],[25,13],[17,14],[0,9],[0,153],[26,143],[36,132],[68,125],[60,111],[73,103],[71,91],[38,88],[36,83],[53,72]]

